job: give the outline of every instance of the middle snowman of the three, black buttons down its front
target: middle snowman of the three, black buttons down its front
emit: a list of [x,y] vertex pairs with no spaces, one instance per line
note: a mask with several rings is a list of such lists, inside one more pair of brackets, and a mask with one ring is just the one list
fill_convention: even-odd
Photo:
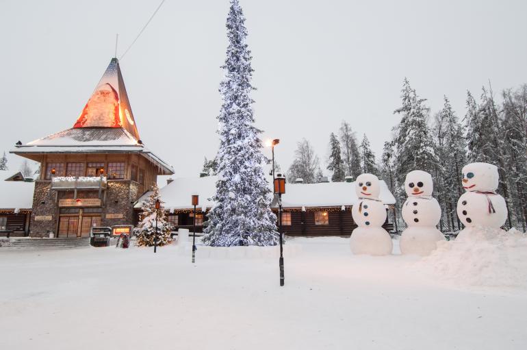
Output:
[[402,205],[402,218],[407,229],[402,232],[399,245],[402,254],[428,255],[437,242],[446,240],[435,226],[441,220],[441,207],[432,197],[432,175],[414,170],[404,180],[408,198]]

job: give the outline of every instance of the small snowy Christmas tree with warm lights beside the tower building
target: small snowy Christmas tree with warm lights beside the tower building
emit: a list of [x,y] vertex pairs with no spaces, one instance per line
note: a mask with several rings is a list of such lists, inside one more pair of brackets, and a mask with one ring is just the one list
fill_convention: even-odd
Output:
[[[139,216],[139,225],[136,227],[136,236],[138,237],[137,245],[140,247],[152,247],[155,238],[155,201],[161,201],[159,197],[159,188],[155,184],[152,188],[152,193],[149,200],[143,203],[143,212]],[[166,221],[166,216],[163,208],[160,206],[157,209],[157,245],[159,247],[168,245],[172,238],[170,238],[170,227]]]

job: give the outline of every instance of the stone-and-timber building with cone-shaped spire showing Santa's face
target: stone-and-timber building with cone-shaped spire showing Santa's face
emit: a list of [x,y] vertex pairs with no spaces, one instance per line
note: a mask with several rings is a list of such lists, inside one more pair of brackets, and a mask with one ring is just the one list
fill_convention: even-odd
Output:
[[139,138],[113,58],[75,125],[11,151],[40,163],[30,236],[77,238],[94,226],[133,224],[133,203],[173,168]]

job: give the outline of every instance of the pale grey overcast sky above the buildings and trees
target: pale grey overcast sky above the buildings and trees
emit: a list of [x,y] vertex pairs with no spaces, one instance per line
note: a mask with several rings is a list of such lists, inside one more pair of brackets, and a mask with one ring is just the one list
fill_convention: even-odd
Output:
[[[433,112],[447,95],[459,116],[467,89],[479,97],[490,79],[498,95],[527,82],[524,0],[240,3],[256,125],[264,139],[281,139],[283,170],[305,137],[329,173],[329,134],[342,120],[379,157],[405,76]],[[120,57],[158,4],[0,0],[0,152],[72,127],[114,56],[116,33]],[[228,8],[228,0],[166,0],[120,62],[140,136],[176,176],[198,175],[203,157],[216,154]],[[16,170],[21,158],[8,157]]]

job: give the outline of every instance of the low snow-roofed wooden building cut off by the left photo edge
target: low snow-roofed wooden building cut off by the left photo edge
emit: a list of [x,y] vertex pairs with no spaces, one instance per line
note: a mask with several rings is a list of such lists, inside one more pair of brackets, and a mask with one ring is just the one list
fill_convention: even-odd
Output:
[[29,234],[33,204],[33,179],[18,172],[0,171],[0,236],[21,237]]

